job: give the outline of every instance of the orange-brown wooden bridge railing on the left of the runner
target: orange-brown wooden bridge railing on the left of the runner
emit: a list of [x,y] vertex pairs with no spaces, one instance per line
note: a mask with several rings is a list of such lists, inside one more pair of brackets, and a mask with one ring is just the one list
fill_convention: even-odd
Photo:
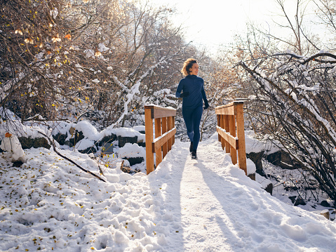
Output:
[[[175,142],[176,110],[156,105],[145,105],[146,167],[147,174],[154,171],[154,152],[156,167],[171,150]],[[153,119],[155,139],[153,140]]]

